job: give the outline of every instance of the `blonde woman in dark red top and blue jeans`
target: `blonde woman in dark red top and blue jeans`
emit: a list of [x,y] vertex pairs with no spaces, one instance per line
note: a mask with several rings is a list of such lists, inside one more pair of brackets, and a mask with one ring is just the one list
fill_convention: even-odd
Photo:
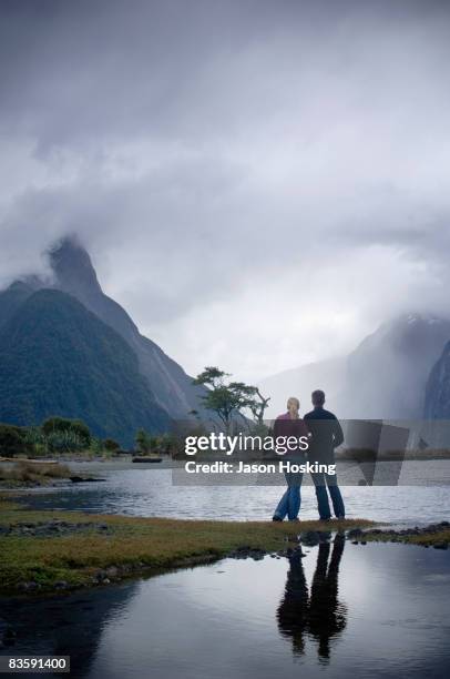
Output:
[[[298,439],[301,436],[308,436],[308,428],[298,415],[299,408],[300,402],[298,398],[290,396],[287,401],[287,413],[278,415],[274,424],[275,444],[278,437],[295,436]],[[304,464],[306,462],[305,453],[300,448],[289,452],[287,457],[289,462],[295,462],[296,464]],[[301,503],[300,487],[303,474],[301,472],[286,472],[285,477],[287,490],[279,500],[272,520],[283,521],[287,515],[289,521],[298,521],[298,513]]]

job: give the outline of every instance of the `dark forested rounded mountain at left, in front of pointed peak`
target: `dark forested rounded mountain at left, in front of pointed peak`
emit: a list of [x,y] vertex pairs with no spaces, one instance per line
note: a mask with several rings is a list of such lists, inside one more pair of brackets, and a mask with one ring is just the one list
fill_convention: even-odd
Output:
[[0,295],[0,313],[1,422],[81,418],[123,445],[132,445],[139,427],[170,426],[133,351],[78,300],[16,284]]

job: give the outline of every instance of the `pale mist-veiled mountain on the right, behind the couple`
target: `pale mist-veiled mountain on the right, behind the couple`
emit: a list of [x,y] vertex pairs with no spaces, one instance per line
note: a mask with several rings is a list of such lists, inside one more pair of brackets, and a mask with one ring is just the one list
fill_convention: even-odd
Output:
[[[311,363],[260,381],[264,395],[272,396],[268,415],[283,412],[288,396],[298,396],[301,409],[308,409],[310,392],[321,388],[329,408],[340,417],[420,419],[428,376],[449,338],[446,318],[397,316],[346,358]],[[431,393],[433,387],[429,388]]]

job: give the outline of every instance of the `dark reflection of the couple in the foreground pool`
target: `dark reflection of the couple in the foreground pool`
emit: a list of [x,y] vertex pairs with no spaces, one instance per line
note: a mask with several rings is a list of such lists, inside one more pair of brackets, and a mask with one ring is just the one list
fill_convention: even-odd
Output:
[[320,659],[327,660],[330,639],[346,627],[347,609],[338,601],[338,569],[344,546],[345,537],[338,534],[328,564],[330,544],[328,541],[319,544],[310,594],[308,594],[301,555],[295,553],[289,559],[290,568],[285,595],[277,610],[277,620],[282,635],[292,638],[296,655],[305,652],[304,636],[307,635],[318,642]]

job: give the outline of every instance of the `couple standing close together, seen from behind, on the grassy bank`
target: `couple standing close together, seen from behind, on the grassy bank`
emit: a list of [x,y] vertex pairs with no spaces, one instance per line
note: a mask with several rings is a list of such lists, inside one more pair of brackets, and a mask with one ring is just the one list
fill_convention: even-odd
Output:
[[[295,436],[297,438],[308,436],[309,462],[333,465],[335,464],[335,448],[344,442],[342,428],[336,415],[324,408],[325,393],[321,389],[313,392],[311,401],[314,409],[301,419],[298,414],[300,403],[298,398],[292,396],[287,402],[287,413],[279,415],[275,420],[274,438],[278,436]],[[288,454],[286,457],[298,464],[306,463],[305,453],[300,449]],[[285,476],[287,490],[275,509],[274,521],[283,521],[286,516],[290,521],[298,520],[303,474],[300,472],[286,472]],[[331,518],[328,491],[335,516],[338,519],[345,518],[344,500],[337,485],[336,474],[315,473],[311,474],[311,477],[316,488],[320,519],[327,521]]]

